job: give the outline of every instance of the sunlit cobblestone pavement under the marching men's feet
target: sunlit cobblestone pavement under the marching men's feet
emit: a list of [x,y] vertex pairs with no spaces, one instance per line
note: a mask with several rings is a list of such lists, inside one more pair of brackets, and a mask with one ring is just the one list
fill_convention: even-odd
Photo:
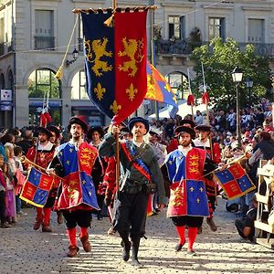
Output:
[[[219,200],[216,210],[218,230],[205,224],[195,243],[197,256],[186,254],[186,248],[174,252],[177,238],[165,210],[147,219],[147,239],[140,248],[141,269],[121,261],[120,238],[107,236],[108,217],[94,219],[90,229],[92,252],[81,247],[77,258],[67,258],[68,239],[65,226],[57,225],[53,213],[52,233],[34,231],[34,208],[24,208],[15,227],[0,228],[0,273],[274,273],[274,252],[240,239],[234,227],[235,216]],[[187,230],[186,230],[187,231]],[[80,246],[80,242],[79,242]],[[187,246],[187,245],[186,245]],[[273,272],[272,272],[273,270]]]

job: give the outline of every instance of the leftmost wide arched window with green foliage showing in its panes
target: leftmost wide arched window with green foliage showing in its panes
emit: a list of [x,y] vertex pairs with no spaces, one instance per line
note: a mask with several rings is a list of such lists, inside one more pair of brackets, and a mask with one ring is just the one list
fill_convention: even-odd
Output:
[[59,99],[59,82],[54,72],[47,68],[39,68],[28,78],[28,97]]

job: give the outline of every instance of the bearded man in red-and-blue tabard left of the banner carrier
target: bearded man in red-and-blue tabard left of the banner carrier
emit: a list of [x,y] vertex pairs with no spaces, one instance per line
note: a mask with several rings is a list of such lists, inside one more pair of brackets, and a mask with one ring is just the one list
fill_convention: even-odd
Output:
[[95,195],[91,172],[98,156],[97,150],[84,141],[83,134],[88,125],[79,117],[71,117],[68,122],[69,142],[58,146],[50,163],[48,173],[62,177],[62,193],[58,197],[57,209],[62,211],[68,232],[68,257],[75,257],[79,251],[76,227],[80,227],[80,241],[86,252],[90,252],[88,228],[91,211],[100,210]]

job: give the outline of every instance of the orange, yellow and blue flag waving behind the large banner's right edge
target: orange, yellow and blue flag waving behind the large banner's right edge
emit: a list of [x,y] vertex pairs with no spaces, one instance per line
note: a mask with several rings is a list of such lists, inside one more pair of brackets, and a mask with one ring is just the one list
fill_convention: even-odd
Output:
[[169,114],[174,117],[178,112],[176,95],[163,75],[147,61],[147,92],[145,99],[156,100],[170,105]]

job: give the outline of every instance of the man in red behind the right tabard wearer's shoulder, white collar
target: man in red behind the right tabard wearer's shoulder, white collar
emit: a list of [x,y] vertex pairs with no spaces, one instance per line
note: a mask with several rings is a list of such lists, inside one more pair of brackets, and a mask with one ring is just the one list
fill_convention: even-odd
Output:
[[[217,142],[214,142],[211,145],[211,140],[209,139],[209,134],[211,134],[211,126],[209,125],[198,125],[195,127],[195,131],[198,137],[193,141],[196,148],[205,150],[206,153],[210,156],[211,160],[218,164],[221,163],[221,151],[220,146]],[[216,195],[217,195],[217,185],[212,180],[212,178],[205,178],[205,189],[208,199],[209,206],[209,216],[206,218],[206,223],[211,228],[212,231],[216,231],[217,227],[213,220],[214,211],[216,209]],[[202,227],[199,228],[200,233]]]

